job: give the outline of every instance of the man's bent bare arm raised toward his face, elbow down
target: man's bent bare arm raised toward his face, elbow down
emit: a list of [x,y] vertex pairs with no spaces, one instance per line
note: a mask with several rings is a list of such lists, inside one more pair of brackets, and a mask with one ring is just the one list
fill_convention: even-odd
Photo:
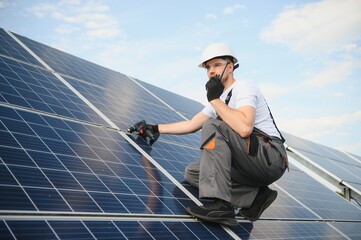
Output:
[[251,135],[256,117],[256,111],[253,107],[243,106],[232,109],[220,99],[214,99],[210,103],[222,120],[241,137]]

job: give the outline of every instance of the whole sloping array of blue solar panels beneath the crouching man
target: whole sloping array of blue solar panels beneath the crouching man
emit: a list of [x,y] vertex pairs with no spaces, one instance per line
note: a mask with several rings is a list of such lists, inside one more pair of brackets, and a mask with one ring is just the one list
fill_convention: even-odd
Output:
[[[9,31],[0,41],[0,239],[361,238],[360,207],[297,164],[257,222],[198,222],[185,211],[200,202],[183,172],[199,157],[199,133],[150,147],[124,130],[190,118],[201,104]],[[287,139],[360,183],[351,155]]]

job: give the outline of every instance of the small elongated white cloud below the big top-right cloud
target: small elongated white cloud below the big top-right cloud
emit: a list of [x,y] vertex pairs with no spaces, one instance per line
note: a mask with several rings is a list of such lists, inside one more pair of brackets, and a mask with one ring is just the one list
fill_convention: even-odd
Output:
[[304,84],[310,87],[324,87],[330,84],[344,81],[352,73],[355,64],[352,62],[335,63],[324,71],[314,75]]

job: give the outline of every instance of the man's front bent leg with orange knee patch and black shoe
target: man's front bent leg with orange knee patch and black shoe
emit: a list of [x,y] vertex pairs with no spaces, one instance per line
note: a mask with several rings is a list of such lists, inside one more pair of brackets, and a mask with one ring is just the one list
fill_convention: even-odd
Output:
[[[199,161],[199,197],[211,198],[214,202],[203,206],[187,208],[192,216],[227,226],[236,226],[234,208],[231,201],[231,151],[224,136],[218,129],[218,120],[210,120],[202,128],[201,158]],[[197,185],[193,176],[197,165],[187,167],[185,177],[192,185]],[[195,170],[195,171],[194,171]]]

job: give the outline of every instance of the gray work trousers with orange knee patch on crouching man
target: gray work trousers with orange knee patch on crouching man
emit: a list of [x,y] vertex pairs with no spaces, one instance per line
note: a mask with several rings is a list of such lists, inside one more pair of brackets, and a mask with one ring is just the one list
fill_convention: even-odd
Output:
[[185,180],[199,188],[199,198],[218,198],[236,207],[250,207],[259,187],[278,180],[287,167],[283,142],[257,137],[254,156],[249,138],[242,138],[222,120],[211,119],[202,127],[199,162],[185,170]]

